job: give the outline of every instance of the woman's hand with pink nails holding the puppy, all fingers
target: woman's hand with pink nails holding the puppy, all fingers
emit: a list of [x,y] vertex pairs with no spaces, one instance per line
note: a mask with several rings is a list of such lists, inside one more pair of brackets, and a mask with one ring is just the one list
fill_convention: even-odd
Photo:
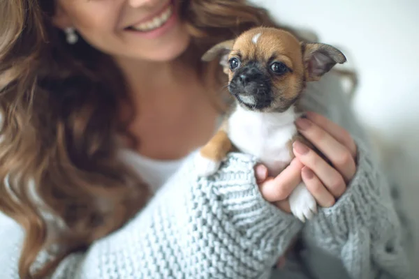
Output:
[[256,166],[260,193],[268,202],[290,213],[288,196],[302,179],[317,203],[330,207],[345,192],[356,172],[355,142],[344,128],[314,112],[295,123],[300,133],[330,160],[332,166],[307,145],[295,142],[295,158],[277,177],[267,177],[266,167]]

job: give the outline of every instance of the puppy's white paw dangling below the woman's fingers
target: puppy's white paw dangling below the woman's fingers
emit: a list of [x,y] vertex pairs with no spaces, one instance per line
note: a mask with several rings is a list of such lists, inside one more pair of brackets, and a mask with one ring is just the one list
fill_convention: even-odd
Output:
[[316,199],[307,190],[304,183],[298,184],[289,197],[291,212],[302,222],[310,220],[317,213]]

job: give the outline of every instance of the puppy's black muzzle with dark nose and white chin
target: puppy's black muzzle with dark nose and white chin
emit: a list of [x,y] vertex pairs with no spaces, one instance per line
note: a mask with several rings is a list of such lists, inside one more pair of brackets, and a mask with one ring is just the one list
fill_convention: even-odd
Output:
[[263,109],[272,103],[270,77],[257,66],[238,69],[228,87],[230,93],[248,107]]

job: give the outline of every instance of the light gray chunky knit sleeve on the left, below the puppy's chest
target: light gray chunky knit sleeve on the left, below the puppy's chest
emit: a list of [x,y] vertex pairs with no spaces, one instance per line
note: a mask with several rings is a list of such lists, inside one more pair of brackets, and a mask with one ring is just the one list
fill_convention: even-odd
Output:
[[[302,224],[265,202],[250,156],[230,154],[215,176],[198,179],[193,155],[135,218],[68,256],[53,278],[267,278]],[[13,259],[0,278],[15,276],[21,241],[7,233],[0,254]]]

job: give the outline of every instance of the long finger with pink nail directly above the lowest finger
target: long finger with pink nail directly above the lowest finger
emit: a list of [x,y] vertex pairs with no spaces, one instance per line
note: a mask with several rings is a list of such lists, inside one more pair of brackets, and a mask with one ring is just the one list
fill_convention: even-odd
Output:
[[332,195],[340,197],[345,192],[346,183],[344,178],[316,152],[298,141],[293,144],[293,152],[304,166],[309,167],[316,174]]

